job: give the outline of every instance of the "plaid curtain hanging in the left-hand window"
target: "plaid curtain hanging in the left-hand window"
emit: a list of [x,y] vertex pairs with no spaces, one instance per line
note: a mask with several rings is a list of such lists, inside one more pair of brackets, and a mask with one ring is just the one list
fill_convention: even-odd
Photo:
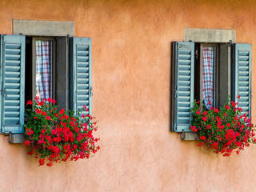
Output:
[[43,100],[52,95],[50,41],[36,41],[36,96]]

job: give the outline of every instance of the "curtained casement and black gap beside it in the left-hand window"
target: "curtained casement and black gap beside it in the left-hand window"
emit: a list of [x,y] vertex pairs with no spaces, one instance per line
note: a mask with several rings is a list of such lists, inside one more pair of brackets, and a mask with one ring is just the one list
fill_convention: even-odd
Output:
[[56,39],[26,37],[26,101],[56,99]]

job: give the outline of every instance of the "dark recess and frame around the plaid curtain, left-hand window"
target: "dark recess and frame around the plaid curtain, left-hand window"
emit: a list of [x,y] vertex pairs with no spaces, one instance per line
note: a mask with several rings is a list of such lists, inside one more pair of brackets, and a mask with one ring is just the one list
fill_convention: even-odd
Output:
[[26,86],[25,101],[32,100],[36,95],[36,41],[50,41],[52,59],[50,97],[56,99],[59,108],[70,108],[70,74],[68,40],[66,37],[46,38],[26,36]]

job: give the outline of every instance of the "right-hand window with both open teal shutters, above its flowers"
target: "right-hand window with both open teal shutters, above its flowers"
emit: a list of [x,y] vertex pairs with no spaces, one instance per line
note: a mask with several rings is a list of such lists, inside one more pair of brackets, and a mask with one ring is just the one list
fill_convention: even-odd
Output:
[[190,108],[198,98],[215,107],[229,93],[233,100],[241,95],[239,106],[250,114],[250,44],[173,42],[172,53],[172,130],[190,131]]

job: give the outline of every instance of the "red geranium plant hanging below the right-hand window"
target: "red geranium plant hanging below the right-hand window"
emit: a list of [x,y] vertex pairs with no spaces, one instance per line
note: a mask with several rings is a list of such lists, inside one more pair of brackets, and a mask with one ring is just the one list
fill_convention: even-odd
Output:
[[194,101],[190,129],[198,133],[198,146],[208,146],[214,153],[228,157],[233,151],[239,154],[245,146],[255,143],[254,126],[247,114],[241,113],[238,102],[229,100],[219,109],[206,110],[202,102]]

